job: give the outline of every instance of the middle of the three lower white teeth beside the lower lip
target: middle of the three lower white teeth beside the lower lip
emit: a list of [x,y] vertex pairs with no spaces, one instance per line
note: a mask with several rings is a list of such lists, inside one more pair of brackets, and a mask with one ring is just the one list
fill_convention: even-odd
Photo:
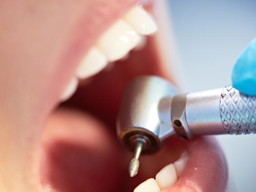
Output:
[[165,189],[176,183],[178,180],[174,164],[165,166],[158,174],[156,174],[156,182],[160,189]]

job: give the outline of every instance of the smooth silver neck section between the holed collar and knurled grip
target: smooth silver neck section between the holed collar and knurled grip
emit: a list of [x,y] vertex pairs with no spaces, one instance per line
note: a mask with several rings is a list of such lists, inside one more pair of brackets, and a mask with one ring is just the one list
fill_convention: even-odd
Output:
[[211,89],[187,94],[186,120],[194,136],[226,133],[219,112],[221,91]]

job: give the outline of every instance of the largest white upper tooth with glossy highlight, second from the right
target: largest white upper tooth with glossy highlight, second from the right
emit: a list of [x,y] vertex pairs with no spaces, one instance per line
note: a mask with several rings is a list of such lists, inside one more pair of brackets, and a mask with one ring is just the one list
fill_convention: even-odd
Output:
[[123,19],[113,24],[98,40],[97,46],[110,62],[124,57],[141,41],[141,36]]

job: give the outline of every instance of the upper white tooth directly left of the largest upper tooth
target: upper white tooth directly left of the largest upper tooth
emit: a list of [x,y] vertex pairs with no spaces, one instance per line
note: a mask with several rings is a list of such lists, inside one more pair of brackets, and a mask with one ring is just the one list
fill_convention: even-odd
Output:
[[108,64],[106,56],[96,47],[92,47],[76,70],[78,78],[87,78],[100,72]]

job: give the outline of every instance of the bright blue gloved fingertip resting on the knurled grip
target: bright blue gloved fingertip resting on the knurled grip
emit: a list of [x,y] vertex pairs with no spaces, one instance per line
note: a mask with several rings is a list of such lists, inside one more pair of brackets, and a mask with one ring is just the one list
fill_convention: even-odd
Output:
[[256,39],[237,59],[232,72],[232,84],[241,93],[256,96]]

